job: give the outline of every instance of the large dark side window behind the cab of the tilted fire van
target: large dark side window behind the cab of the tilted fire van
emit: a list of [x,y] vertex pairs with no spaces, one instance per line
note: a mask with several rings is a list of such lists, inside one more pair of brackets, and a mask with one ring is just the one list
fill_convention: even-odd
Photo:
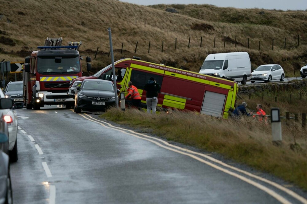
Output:
[[136,88],[143,89],[144,85],[148,82],[150,77],[153,77],[161,86],[163,76],[137,70],[131,70],[130,81],[132,81],[132,84],[136,86]]

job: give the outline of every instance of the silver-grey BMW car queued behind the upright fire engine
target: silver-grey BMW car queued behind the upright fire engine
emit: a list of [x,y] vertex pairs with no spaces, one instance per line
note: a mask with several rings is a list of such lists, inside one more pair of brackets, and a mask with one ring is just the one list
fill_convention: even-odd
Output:
[[23,102],[23,85],[22,81],[10,81],[4,90],[6,98],[11,98],[14,103]]

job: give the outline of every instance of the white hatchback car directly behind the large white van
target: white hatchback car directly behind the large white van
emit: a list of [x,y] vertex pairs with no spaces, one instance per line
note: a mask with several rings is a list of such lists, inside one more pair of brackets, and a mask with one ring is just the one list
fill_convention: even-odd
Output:
[[251,83],[255,81],[271,82],[272,80],[285,80],[285,72],[279,64],[265,64],[258,66],[251,73]]

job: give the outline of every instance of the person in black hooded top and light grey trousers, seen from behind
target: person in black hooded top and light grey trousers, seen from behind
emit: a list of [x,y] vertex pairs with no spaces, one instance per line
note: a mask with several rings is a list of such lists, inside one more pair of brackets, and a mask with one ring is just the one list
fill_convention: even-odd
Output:
[[146,91],[147,113],[150,113],[152,110],[153,114],[156,114],[158,92],[160,92],[161,89],[160,85],[156,83],[153,77],[150,77],[143,89]]

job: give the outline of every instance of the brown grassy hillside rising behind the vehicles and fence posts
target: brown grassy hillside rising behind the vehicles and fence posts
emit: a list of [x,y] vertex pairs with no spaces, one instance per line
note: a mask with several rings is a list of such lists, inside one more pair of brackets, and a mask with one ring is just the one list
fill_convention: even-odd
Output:
[[[253,68],[278,63],[286,70],[286,76],[293,76],[294,71],[298,75],[300,67],[307,63],[306,11],[235,9],[206,4],[138,6],[116,0],[0,0],[0,3],[0,60],[23,61],[46,37],[63,37],[64,45],[69,41],[83,42],[80,52],[92,57],[92,73],[95,73],[111,63],[107,31],[111,27],[115,60],[139,56],[198,71],[210,53],[247,51]],[[166,12],[167,8],[178,13]]]

